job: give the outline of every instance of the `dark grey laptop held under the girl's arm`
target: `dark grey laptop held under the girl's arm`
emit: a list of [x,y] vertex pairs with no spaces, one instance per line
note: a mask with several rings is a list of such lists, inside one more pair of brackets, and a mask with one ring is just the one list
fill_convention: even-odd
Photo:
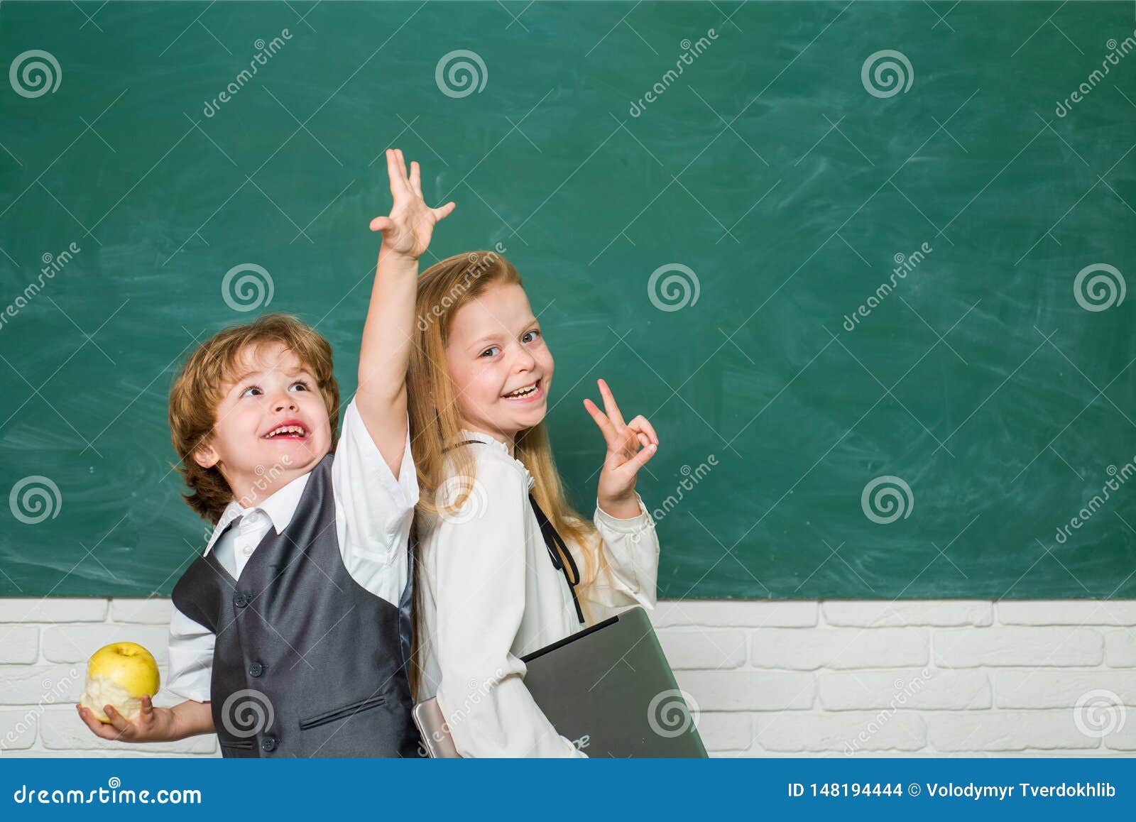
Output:
[[[707,755],[651,621],[632,607],[521,657],[525,687],[552,725],[591,757]],[[458,756],[437,699],[415,705],[431,756]]]

